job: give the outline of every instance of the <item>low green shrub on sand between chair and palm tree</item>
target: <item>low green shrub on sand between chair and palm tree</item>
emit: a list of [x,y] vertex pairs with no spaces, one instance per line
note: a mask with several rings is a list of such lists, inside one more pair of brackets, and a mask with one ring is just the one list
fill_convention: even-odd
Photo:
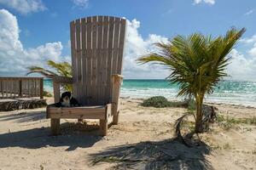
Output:
[[187,107],[187,102],[184,101],[168,101],[163,96],[154,96],[149,99],[143,100],[142,105],[144,107]]

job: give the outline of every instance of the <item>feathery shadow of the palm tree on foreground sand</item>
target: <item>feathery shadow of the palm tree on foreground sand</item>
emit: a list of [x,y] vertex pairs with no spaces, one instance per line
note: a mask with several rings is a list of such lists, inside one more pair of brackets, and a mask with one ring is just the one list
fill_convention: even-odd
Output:
[[125,144],[90,155],[92,165],[113,162],[113,169],[212,169],[207,144],[187,147],[177,139]]

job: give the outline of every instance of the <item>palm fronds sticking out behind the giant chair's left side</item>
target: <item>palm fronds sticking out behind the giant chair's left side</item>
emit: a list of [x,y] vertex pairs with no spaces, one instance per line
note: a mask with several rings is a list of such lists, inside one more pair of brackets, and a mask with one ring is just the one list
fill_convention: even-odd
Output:
[[[67,62],[55,63],[53,60],[48,60],[47,65],[55,71],[49,71],[39,66],[28,67],[29,72],[27,75],[32,73],[40,73],[44,77],[53,78],[55,76],[61,77],[72,77],[72,66]],[[72,90],[72,86],[69,84],[63,85],[63,88],[67,91]]]

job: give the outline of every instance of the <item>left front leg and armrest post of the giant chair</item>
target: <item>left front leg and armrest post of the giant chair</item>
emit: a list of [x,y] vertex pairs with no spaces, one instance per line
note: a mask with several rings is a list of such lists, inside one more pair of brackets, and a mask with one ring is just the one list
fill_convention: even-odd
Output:
[[[57,103],[60,101],[61,98],[60,84],[53,82],[53,86],[55,103]],[[58,135],[60,133],[60,124],[60,119],[50,119],[50,129],[52,135]]]

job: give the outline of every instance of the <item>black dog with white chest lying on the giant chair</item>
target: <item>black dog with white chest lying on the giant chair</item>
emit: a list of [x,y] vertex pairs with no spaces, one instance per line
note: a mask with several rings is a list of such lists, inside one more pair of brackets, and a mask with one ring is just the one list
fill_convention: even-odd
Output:
[[70,92],[64,92],[61,94],[59,103],[55,104],[56,107],[74,107],[80,106],[77,99],[74,99]]

